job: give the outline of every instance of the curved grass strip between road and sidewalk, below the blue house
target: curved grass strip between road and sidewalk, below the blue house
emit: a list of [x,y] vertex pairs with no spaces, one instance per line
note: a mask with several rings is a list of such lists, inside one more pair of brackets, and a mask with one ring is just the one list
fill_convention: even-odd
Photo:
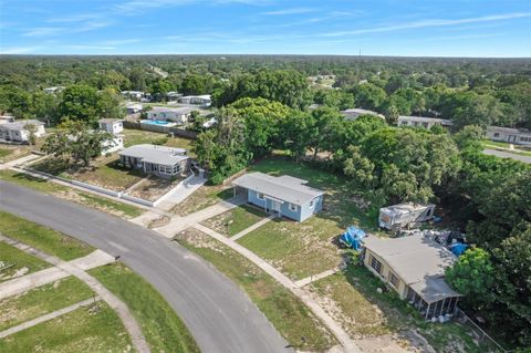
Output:
[[298,350],[321,352],[336,344],[333,335],[295,295],[236,251],[195,229],[177,235],[176,240],[238,283]]

